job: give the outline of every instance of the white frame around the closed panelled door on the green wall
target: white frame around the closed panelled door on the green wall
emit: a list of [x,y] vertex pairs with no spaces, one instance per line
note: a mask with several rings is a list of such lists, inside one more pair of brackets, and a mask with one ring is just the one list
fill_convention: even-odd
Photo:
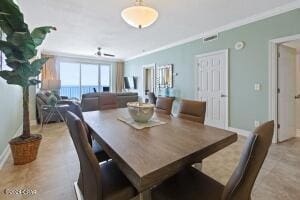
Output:
[[197,59],[200,57],[206,57],[206,56],[212,56],[214,54],[225,54],[225,77],[226,77],[226,83],[225,83],[225,95],[227,96],[225,98],[225,129],[229,128],[229,49],[223,49],[223,50],[218,50],[218,51],[212,51],[208,53],[203,53],[195,56],[195,65],[194,65],[194,78],[195,78],[195,85],[194,85],[194,97],[195,99],[198,98],[198,81],[199,81],[199,75],[197,74]]

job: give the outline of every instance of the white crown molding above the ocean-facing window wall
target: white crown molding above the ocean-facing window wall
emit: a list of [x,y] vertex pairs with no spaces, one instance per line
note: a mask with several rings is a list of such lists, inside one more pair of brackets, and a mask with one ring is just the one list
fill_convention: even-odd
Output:
[[119,59],[119,58],[106,58],[106,57],[97,57],[97,56],[87,56],[87,55],[70,54],[70,53],[64,53],[64,52],[58,52],[58,51],[43,50],[41,53],[46,54],[46,55],[66,57],[66,58],[79,58],[79,59],[106,61],[106,62],[124,62],[123,59]]

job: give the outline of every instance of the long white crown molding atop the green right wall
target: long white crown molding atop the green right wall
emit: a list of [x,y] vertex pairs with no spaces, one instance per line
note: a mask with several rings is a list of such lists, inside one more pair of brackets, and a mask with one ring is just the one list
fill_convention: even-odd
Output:
[[175,47],[175,46],[178,46],[178,45],[186,44],[188,42],[192,42],[192,41],[201,39],[201,38],[203,38],[207,35],[228,31],[228,30],[231,30],[231,29],[243,26],[243,25],[247,25],[247,24],[250,24],[250,23],[253,23],[253,22],[256,22],[256,21],[260,21],[260,20],[263,20],[263,19],[267,19],[267,18],[276,16],[276,15],[280,15],[280,14],[292,11],[292,10],[296,10],[298,8],[300,8],[300,0],[297,0],[297,1],[292,2],[292,3],[288,3],[284,6],[276,7],[274,9],[268,10],[266,12],[263,12],[263,13],[260,13],[260,14],[257,14],[257,15],[252,15],[252,16],[247,17],[245,19],[237,20],[237,21],[229,23],[227,25],[220,26],[216,29],[212,29],[212,30],[203,32],[201,34],[194,35],[192,37],[189,37],[189,38],[186,38],[186,39],[174,42],[174,43],[170,43],[168,45],[162,46],[162,47],[157,48],[157,49],[147,51],[147,52],[144,52],[142,54],[138,54],[136,56],[125,59],[125,61],[133,60],[135,58],[146,56],[146,55],[158,52],[158,51],[162,51],[162,50],[169,49],[169,48],[172,48],[172,47]]

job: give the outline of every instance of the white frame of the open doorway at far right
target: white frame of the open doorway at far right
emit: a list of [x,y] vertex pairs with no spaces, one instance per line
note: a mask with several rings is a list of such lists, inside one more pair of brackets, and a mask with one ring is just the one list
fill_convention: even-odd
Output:
[[300,39],[300,34],[272,39],[269,41],[269,120],[274,120],[273,143],[279,143],[278,135],[278,45]]

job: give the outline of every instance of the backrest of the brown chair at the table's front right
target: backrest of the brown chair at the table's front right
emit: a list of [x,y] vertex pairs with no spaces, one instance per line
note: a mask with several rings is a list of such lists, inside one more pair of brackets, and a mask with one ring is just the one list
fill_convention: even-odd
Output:
[[229,179],[222,200],[250,200],[251,191],[272,143],[274,121],[259,126],[249,135],[240,162]]

